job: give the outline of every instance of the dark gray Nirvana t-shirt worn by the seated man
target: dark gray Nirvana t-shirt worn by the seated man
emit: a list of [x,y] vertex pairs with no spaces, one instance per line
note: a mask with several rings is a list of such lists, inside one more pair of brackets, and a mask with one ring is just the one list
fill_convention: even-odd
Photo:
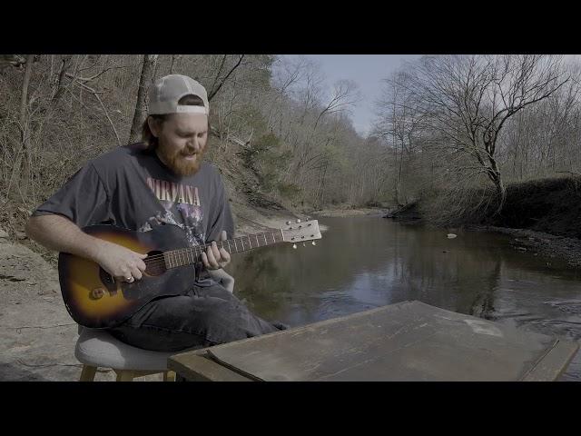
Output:
[[[210,163],[180,177],[141,143],[87,162],[33,216],[51,213],[81,228],[105,223],[148,232],[156,223],[177,225],[190,246],[217,241],[222,230],[229,238],[234,232],[222,177]],[[198,284],[212,282],[207,274],[197,276]]]

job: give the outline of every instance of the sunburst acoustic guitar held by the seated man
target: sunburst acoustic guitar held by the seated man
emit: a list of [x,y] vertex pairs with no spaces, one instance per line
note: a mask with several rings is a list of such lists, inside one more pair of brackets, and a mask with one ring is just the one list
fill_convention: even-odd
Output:
[[[251,234],[217,242],[228,253],[242,253],[275,243],[306,243],[320,239],[319,223],[287,222],[273,232]],[[98,264],[70,253],[59,253],[58,272],[64,304],[74,321],[91,328],[107,328],[123,322],[147,302],[162,295],[179,295],[195,281],[194,264],[210,244],[184,246],[182,228],[154,226],[135,232],[112,225],[92,225],[83,231],[96,238],[147,254],[141,280],[116,281]]]

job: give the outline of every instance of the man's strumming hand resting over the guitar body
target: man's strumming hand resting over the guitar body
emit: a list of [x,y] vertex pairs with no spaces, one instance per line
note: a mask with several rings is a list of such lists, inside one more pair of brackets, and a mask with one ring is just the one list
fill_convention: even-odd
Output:
[[94,260],[103,270],[113,275],[115,280],[133,282],[141,280],[145,271],[143,259],[146,257],[147,254],[136,253],[122,245],[100,240]]

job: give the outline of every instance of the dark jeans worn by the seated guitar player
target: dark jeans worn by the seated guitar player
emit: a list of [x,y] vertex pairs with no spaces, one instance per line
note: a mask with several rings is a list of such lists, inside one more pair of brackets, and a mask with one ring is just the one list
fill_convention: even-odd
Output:
[[253,315],[221,285],[194,286],[176,296],[162,296],[109,329],[118,340],[157,352],[179,352],[194,347],[238,341],[286,329]]

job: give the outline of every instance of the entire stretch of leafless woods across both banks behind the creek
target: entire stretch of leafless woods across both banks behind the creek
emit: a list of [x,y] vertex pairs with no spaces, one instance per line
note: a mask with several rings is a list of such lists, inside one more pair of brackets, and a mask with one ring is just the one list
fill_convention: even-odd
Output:
[[[4,54],[0,220],[22,223],[88,159],[138,141],[147,89],[187,74],[211,100],[208,158],[288,208],[405,204],[436,222],[498,213],[507,183],[580,172],[579,65],[557,55],[425,55],[386,74],[368,137],[358,85],[304,56]],[[235,192],[231,192],[234,195]]]

